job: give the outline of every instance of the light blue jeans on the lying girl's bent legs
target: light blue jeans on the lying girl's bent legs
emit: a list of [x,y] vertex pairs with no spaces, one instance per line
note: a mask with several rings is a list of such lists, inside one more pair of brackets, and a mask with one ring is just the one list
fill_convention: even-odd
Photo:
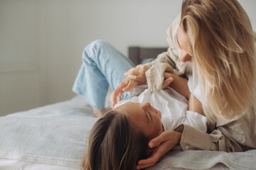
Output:
[[[85,98],[93,108],[102,109],[105,107],[109,84],[115,89],[125,78],[124,73],[132,67],[132,61],[110,43],[95,40],[82,53],[82,67],[75,79],[73,91]],[[122,100],[129,98],[124,92]]]

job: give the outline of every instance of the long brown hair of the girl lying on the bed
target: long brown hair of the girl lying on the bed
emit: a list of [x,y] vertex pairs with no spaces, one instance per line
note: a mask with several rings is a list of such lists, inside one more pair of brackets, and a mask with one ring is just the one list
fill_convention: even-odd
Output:
[[133,170],[145,158],[146,137],[129,116],[110,111],[93,126],[82,163],[85,170]]

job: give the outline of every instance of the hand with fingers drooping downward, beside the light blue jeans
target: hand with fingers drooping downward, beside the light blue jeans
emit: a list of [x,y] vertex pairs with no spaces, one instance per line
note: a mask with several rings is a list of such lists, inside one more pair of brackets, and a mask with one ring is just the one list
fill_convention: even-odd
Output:
[[112,91],[112,94],[110,96],[110,104],[112,108],[114,108],[114,105],[121,101],[121,96],[124,93],[124,91],[130,91],[132,88],[137,86],[139,84],[139,81],[136,81],[134,79],[130,79],[129,77],[126,77],[121,81],[117,88]]

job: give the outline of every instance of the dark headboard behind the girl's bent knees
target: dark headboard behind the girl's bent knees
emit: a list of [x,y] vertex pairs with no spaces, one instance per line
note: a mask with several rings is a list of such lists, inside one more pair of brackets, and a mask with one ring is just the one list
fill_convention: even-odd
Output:
[[129,59],[135,65],[148,58],[156,58],[161,52],[166,52],[168,47],[129,47]]

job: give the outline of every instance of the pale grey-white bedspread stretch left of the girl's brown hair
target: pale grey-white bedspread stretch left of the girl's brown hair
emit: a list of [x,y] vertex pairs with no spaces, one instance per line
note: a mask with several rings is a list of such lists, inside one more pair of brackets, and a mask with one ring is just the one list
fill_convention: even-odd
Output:
[[97,118],[82,98],[0,118],[0,158],[79,168]]

